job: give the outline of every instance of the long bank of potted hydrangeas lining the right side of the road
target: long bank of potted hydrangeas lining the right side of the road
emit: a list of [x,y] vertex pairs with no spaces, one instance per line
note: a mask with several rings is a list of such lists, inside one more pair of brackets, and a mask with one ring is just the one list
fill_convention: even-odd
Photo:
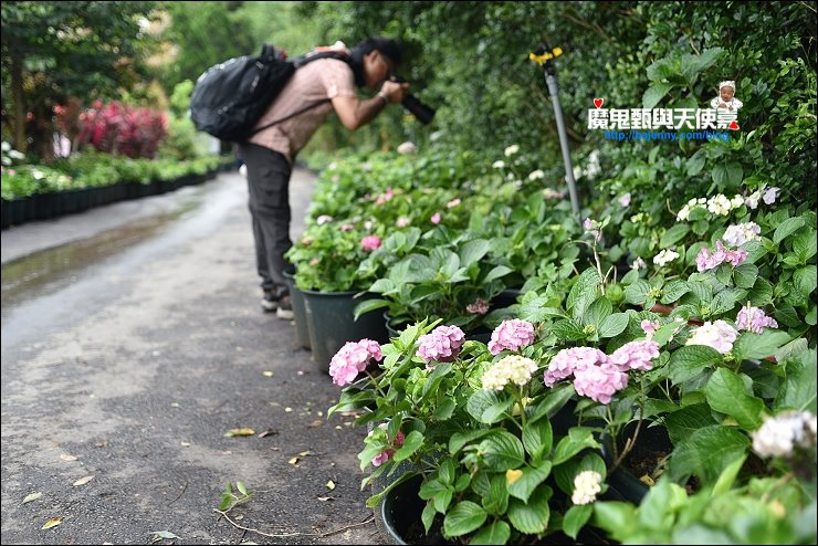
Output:
[[295,286],[400,319],[328,363],[370,505],[413,483],[422,528],[470,544],[814,543],[812,206],[633,188],[577,219],[521,156],[323,175]]

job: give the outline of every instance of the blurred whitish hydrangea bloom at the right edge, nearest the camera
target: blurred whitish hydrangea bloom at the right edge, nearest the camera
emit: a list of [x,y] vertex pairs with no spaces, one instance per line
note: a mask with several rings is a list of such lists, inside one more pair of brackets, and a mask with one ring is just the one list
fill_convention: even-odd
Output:
[[753,432],[753,449],[761,456],[789,456],[796,448],[816,444],[816,416],[809,411],[784,411],[766,416]]

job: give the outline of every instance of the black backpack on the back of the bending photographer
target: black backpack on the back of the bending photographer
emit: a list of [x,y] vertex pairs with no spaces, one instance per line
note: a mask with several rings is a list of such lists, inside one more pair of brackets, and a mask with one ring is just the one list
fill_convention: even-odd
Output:
[[310,53],[290,61],[283,52],[264,44],[259,56],[244,55],[211,66],[196,81],[190,95],[190,118],[197,129],[222,140],[247,140],[260,130],[328,101],[308,105],[253,130],[295,70],[317,59],[349,61],[339,52]]

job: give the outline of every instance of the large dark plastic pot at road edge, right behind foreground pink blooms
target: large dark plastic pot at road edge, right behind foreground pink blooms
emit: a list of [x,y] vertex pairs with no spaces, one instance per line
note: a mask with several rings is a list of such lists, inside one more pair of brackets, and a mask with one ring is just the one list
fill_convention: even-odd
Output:
[[347,342],[368,338],[382,344],[388,340],[384,321],[377,314],[366,314],[355,321],[355,306],[361,301],[354,297],[357,292],[304,290],[302,294],[313,361],[322,371],[329,372],[329,361]]

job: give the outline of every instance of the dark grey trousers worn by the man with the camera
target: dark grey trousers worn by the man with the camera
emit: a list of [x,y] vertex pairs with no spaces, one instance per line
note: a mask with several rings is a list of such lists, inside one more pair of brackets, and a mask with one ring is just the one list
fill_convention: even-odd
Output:
[[293,242],[290,240],[290,176],[286,158],[270,148],[244,143],[239,155],[248,166],[248,206],[253,220],[255,266],[261,287],[281,295],[286,292],[282,272],[292,270],[284,259]]

